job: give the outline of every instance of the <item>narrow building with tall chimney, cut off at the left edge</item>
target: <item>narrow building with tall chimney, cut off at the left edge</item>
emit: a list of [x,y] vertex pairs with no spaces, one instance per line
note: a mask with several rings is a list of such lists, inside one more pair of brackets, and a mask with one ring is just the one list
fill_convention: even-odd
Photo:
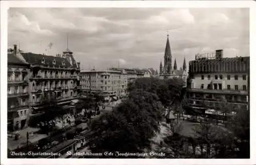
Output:
[[14,50],[8,50],[8,131],[28,125],[29,119],[29,64],[19,60]]

